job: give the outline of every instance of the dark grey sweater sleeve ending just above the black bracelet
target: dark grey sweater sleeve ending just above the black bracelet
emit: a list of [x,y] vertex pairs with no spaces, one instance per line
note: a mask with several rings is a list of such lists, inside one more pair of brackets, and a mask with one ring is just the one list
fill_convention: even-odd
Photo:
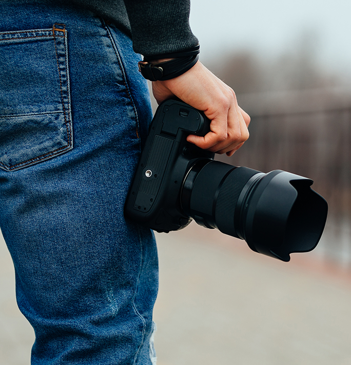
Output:
[[133,48],[154,56],[186,50],[199,41],[189,25],[190,0],[124,0]]

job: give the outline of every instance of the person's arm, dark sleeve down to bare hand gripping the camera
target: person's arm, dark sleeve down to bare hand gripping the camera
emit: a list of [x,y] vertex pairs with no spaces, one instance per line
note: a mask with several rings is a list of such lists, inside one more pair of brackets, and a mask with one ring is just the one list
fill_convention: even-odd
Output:
[[[155,67],[160,68],[160,75],[156,77],[153,72],[149,72],[150,67],[147,65],[165,62],[171,53],[174,55],[174,52],[189,51],[198,44],[189,26],[189,0],[125,0],[125,4],[134,51],[149,59],[140,67],[142,71],[142,68],[148,70],[142,73],[153,81],[156,100],[160,103],[175,96],[204,111],[211,120],[211,132],[205,137],[190,135],[187,140],[200,148],[232,155],[248,138],[247,126],[250,122],[250,117],[238,105],[233,90],[200,62],[196,62],[198,56],[194,56],[193,62],[189,63],[191,68],[187,67],[184,58],[186,62],[183,70],[168,70],[167,77],[163,76],[165,69]],[[182,53],[177,54],[177,57],[182,58]]]

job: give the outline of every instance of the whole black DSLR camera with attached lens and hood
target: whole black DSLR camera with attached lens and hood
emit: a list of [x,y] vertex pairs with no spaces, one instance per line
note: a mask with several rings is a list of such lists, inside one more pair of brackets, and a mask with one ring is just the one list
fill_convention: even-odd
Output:
[[151,122],[125,203],[125,216],[158,232],[191,220],[245,240],[256,252],[290,260],[313,250],[326,217],[313,180],[282,170],[263,173],[214,160],[187,142],[205,136],[210,120],[180,100],[167,100]]

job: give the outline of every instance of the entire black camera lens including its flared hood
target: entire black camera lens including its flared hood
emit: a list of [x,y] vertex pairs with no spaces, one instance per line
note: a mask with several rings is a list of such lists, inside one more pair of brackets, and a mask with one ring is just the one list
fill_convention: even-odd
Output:
[[314,249],[324,229],[327,203],[310,189],[312,184],[281,170],[265,174],[200,159],[183,181],[181,205],[198,224],[289,261],[292,252]]

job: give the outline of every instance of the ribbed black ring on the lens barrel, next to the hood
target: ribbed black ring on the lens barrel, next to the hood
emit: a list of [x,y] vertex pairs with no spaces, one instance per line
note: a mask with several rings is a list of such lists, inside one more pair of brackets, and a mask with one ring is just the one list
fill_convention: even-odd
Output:
[[247,181],[259,173],[247,167],[233,170],[223,181],[217,197],[215,219],[218,229],[231,236],[238,237],[234,227],[234,215],[239,195]]

